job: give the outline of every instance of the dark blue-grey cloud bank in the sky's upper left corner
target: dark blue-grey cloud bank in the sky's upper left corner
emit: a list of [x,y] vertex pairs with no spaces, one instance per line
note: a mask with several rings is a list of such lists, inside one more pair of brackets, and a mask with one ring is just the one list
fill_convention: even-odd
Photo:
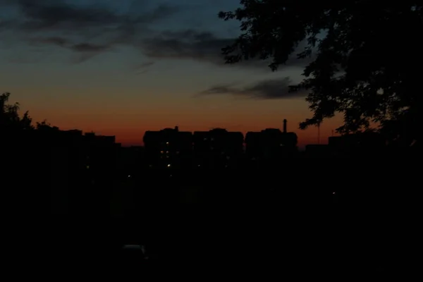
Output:
[[165,4],[149,9],[141,5],[137,11],[118,13],[105,5],[76,6],[61,0],[0,0],[0,10],[5,7],[13,8],[16,15],[0,21],[0,32],[12,30],[13,39],[18,41],[90,56],[118,44],[134,46],[149,25],[179,9]]

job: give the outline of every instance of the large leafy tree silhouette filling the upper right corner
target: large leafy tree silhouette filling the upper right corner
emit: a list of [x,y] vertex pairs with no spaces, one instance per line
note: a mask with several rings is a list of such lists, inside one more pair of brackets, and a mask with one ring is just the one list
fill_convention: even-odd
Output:
[[223,20],[242,35],[222,49],[226,63],[271,59],[276,71],[302,43],[312,59],[293,91],[309,90],[312,118],[300,128],[343,115],[339,133],[379,125],[392,140],[417,140],[419,68],[423,63],[422,1],[242,0]]

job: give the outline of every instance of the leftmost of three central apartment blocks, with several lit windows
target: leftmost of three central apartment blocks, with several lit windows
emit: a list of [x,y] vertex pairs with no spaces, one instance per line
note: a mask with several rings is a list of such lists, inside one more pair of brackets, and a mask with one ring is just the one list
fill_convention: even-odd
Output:
[[188,168],[192,158],[192,133],[165,128],[147,131],[143,138],[145,161],[150,168]]

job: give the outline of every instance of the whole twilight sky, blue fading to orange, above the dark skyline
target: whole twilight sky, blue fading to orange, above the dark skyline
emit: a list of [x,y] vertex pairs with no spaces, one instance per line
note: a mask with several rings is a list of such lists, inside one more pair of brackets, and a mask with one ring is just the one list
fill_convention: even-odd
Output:
[[[317,143],[302,80],[305,61],[272,72],[265,61],[225,64],[240,35],[223,21],[239,0],[0,0],[0,92],[35,121],[116,135],[140,145],[146,130],[282,128]],[[340,125],[321,125],[321,142]]]

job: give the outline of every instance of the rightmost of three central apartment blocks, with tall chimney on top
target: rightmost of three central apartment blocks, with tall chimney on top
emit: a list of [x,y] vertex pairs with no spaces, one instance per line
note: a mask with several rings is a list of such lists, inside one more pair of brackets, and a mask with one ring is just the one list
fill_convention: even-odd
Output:
[[274,164],[281,158],[293,157],[298,152],[298,137],[295,133],[287,132],[286,123],[283,120],[283,131],[267,128],[245,135],[245,154],[250,165]]

